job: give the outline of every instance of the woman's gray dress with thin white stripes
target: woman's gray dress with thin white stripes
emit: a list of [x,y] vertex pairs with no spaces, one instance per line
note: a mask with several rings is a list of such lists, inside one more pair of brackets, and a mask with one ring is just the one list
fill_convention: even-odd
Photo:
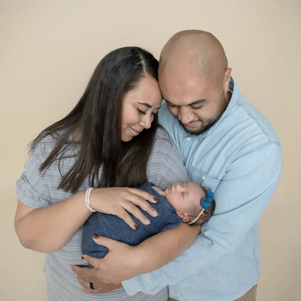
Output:
[[[16,193],[22,203],[34,208],[45,207],[72,196],[71,193],[57,189],[61,182],[61,173],[67,172],[75,163],[77,157],[64,158],[51,163],[45,171],[39,172],[39,167],[52,151],[56,140],[51,136],[45,137],[31,151],[26,163],[26,169],[17,180]],[[67,155],[76,154],[77,149],[70,145]],[[99,171],[99,178],[101,169]],[[175,145],[170,142],[167,132],[158,128],[154,147],[147,165],[147,177],[157,187],[165,189],[174,182],[188,181],[187,171],[182,163],[182,157]],[[79,191],[89,187],[88,177],[82,183]],[[84,201],[84,200],[83,200]],[[74,217],[76,218],[76,217]],[[61,249],[46,254],[44,272],[46,273],[47,295],[49,301],[160,301],[167,300],[168,288],[165,287],[156,295],[137,293],[128,296],[125,290],[119,289],[103,294],[88,294],[80,288],[80,283],[71,270],[70,265],[85,265],[81,259],[82,228]],[[51,235],[51,233],[49,233]]]

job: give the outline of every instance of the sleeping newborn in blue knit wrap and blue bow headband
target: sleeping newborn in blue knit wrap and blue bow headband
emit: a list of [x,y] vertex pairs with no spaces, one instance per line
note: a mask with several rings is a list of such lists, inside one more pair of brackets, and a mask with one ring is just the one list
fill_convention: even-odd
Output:
[[129,213],[138,225],[138,229],[134,230],[116,215],[92,213],[86,220],[82,232],[82,254],[102,258],[108,253],[106,247],[94,242],[92,239],[94,233],[136,246],[156,233],[177,227],[181,222],[188,222],[191,226],[202,225],[215,209],[212,191],[194,182],[174,183],[165,191],[147,182],[138,189],[153,194],[159,200],[157,203],[150,203],[159,215],[150,216],[139,207],[151,223],[144,225]]

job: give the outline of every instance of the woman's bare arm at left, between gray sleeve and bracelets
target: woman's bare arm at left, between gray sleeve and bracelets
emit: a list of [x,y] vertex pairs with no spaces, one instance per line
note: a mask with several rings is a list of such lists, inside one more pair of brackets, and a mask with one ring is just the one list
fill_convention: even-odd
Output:
[[[30,212],[26,214],[26,210]],[[19,201],[15,230],[24,247],[50,253],[64,246],[90,214],[85,205],[85,191],[39,209],[29,209]]]

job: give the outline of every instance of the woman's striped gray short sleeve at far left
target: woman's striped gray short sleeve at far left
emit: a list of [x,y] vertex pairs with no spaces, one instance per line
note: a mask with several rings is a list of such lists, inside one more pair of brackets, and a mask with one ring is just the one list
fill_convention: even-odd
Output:
[[25,171],[16,182],[17,197],[27,206],[41,208],[51,204],[47,172],[39,171],[44,160],[40,143],[30,152]]

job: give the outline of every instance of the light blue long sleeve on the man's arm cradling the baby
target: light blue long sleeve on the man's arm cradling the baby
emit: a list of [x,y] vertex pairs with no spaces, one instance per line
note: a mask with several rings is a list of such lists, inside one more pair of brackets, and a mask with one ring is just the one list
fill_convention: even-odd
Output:
[[222,255],[233,252],[267,208],[278,185],[282,151],[270,144],[234,160],[216,191],[216,212],[202,226],[194,243],[162,268],[123,281],[132,296],[155,294],[196,275]]

